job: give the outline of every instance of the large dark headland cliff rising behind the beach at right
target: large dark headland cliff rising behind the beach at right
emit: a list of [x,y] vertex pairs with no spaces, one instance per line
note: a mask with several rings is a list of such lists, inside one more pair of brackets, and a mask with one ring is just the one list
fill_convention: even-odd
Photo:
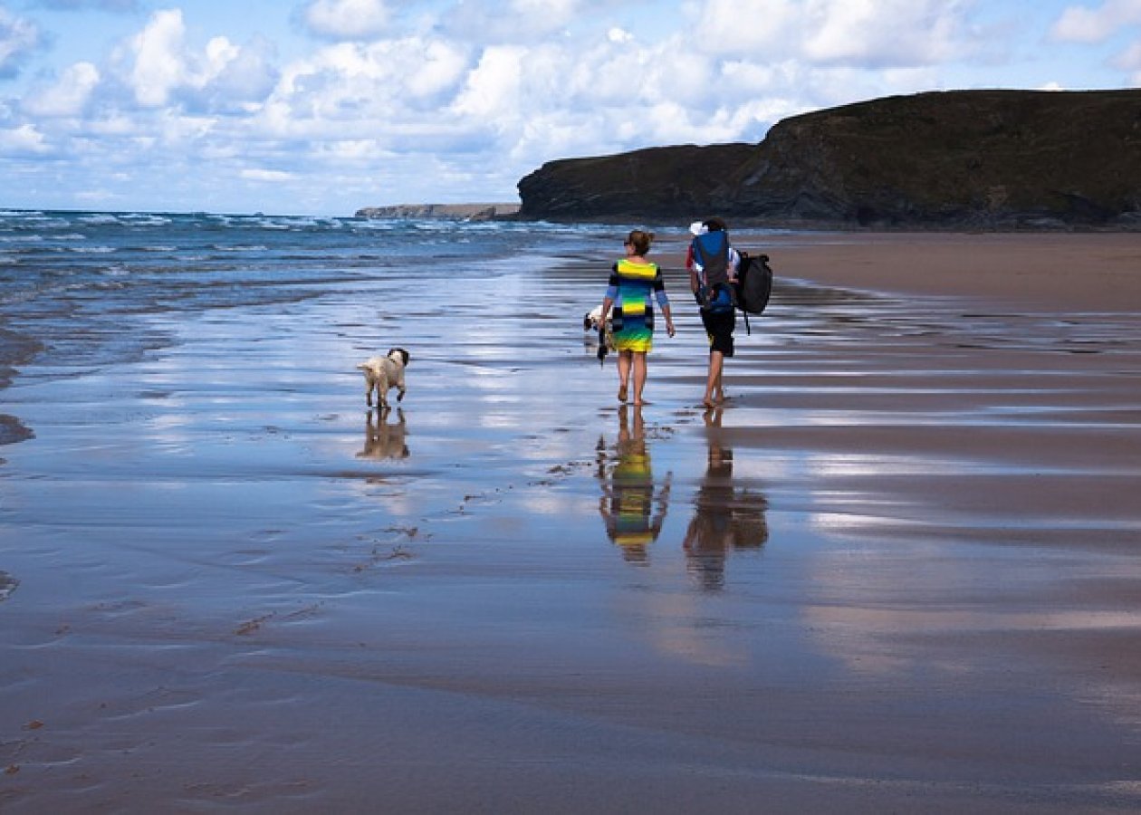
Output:
[[520,216],[1141,228],[1141,90],[968,90],[793,116],[758,145],[552,161]]

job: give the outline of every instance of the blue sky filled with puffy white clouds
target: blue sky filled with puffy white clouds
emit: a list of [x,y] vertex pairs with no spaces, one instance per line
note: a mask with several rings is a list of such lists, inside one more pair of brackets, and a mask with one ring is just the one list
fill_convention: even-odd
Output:
[[969,88],[1141,88],[1141,0],[0,0],[0,208],[512,202]]

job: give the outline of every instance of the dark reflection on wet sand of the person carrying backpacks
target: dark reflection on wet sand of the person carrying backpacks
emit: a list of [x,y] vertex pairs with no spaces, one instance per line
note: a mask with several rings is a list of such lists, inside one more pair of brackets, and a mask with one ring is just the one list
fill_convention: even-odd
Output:
[[689,573],[706,590],[725,584],[730,549],[759,549],[769,539],[764,497],[734,487],[733,450],[722,444],[721,412],[720,408],[705,411],[709,462],[682,544]]

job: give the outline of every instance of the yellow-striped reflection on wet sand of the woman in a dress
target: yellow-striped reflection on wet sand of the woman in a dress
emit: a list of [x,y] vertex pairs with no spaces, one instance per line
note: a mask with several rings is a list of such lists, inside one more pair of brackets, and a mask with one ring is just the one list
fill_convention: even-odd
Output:
[[629,408],[618,409],[618,442],[607,473],[605,443],[599,444],[599,471],[602,498],[598,509],[606,524],[606,534],[622,547],[622,555],[631,563],[647,562],[646,548],[657,540],[665,522],[670,500],[670,476],[655,494],[654,474],[641,411],[633,409],[633,431],[629,423]]

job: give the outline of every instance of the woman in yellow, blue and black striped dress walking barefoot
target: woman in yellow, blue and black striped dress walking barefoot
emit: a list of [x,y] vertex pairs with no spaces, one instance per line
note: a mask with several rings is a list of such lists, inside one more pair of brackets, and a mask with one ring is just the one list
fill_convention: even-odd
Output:
[[673,337],[670,299],[657,264],[646,259],[654,235],[634,229],[625,241],[626,256],[614,264],[610,284],[602,300],[602,321],[614,308],[614,349],[618,354],[618,401],[625,402],[633,374],[633,403],[649,404],[642,398],[646,387],[646,355],[654,346],[654,301],[665,317],[665,330]]

